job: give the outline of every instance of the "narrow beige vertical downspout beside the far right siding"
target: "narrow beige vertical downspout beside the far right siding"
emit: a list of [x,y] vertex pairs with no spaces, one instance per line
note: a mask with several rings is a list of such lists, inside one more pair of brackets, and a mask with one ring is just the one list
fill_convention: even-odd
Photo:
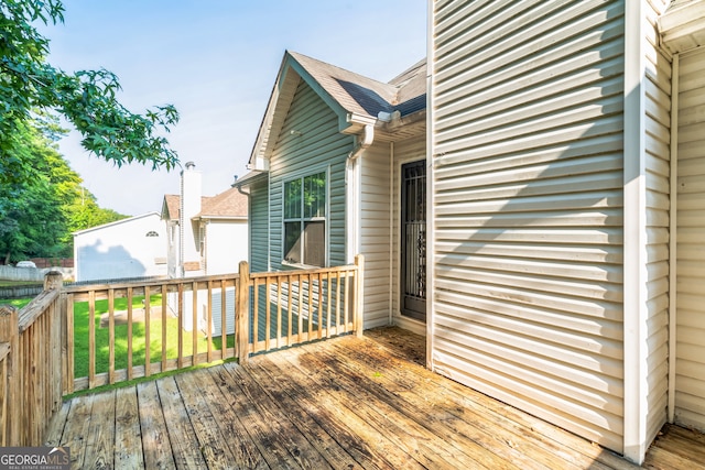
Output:
[[673,54],[671,67],[671,175],[669,207],[669,423],[675,420],[675,354],[677,320],[677,177],[679,177],[679,69],[680,54]]

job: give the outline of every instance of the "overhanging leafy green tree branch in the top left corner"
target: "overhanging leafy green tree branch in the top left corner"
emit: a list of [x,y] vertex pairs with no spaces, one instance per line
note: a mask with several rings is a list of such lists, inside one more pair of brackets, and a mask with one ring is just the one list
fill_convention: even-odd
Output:
[[0,184],[31,173],[20,139],[35,109],[63,114],[83,134],[85,149],[117,166],[176,166],[163,135],[178,121],[173,106],[132,113],[116,99],[120,84],[112,73],[69,74],[46,62],[48,40],[33,23],[61,23],[63,14],[59,0],[0,0]]

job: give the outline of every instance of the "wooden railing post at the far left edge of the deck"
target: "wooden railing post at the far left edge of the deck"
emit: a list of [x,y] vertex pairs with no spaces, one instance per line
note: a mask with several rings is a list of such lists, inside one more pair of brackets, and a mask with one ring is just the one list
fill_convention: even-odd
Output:
[[4,406],[2,409],[2,446],[20,446],[20,416],[24,412],[24,406],[18,400],[20,386],[19,376],[19,353],[20,353],[20,328],[19,310],[12,305],[0,305],[0,342],[10,345],[10,353],[7,361],[7,376],[3,386]]

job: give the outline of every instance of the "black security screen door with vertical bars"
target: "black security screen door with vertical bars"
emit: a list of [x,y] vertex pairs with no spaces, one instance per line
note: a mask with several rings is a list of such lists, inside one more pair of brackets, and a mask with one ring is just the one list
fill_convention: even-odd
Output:
[[401,313],[426,320],[426,167],[401,167]]

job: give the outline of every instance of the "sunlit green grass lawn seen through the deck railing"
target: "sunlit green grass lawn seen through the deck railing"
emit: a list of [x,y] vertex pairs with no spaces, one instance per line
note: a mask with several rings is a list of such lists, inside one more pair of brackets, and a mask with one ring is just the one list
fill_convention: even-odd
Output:
[[[133,308],[142,308],[143,296],[133,297]],[[150,305],[161,306],[162,296],[150,297]],[[127,299],[115,299],[115,311],[127,310]],[[100,328],[100,315],[108,311],[108,300],[96,300],[96,317],[94,328],[96,331],[96,373],[108,372],[110,360],[110,330],[108,327]],[[77,302],[74,304],[74,376],[83,378],[88,375],[89,345],[88,329],[90,326],[88,303]],[[183,331],[183,356],[188,357],[193,350],[193,332]],[[143,321],[132,324],[132,365],[144,365],[145,331]],[[228,347],[232,347],[235,338],[228,337]],[[219,350],[220,338],[213,339],[213,347]],[[197,340],[198,352],[207,351],[207,340],[200,331]],[[152,319],[150,321],[150,359],[151,362],[160,362],[162,357],[162,320]],[[166,319],[166,357],[176,359],[178,357],[178,319],[169,315]],[[119,325],[115,327],[115,370],[127,369],[128,367],[128,326]]]

